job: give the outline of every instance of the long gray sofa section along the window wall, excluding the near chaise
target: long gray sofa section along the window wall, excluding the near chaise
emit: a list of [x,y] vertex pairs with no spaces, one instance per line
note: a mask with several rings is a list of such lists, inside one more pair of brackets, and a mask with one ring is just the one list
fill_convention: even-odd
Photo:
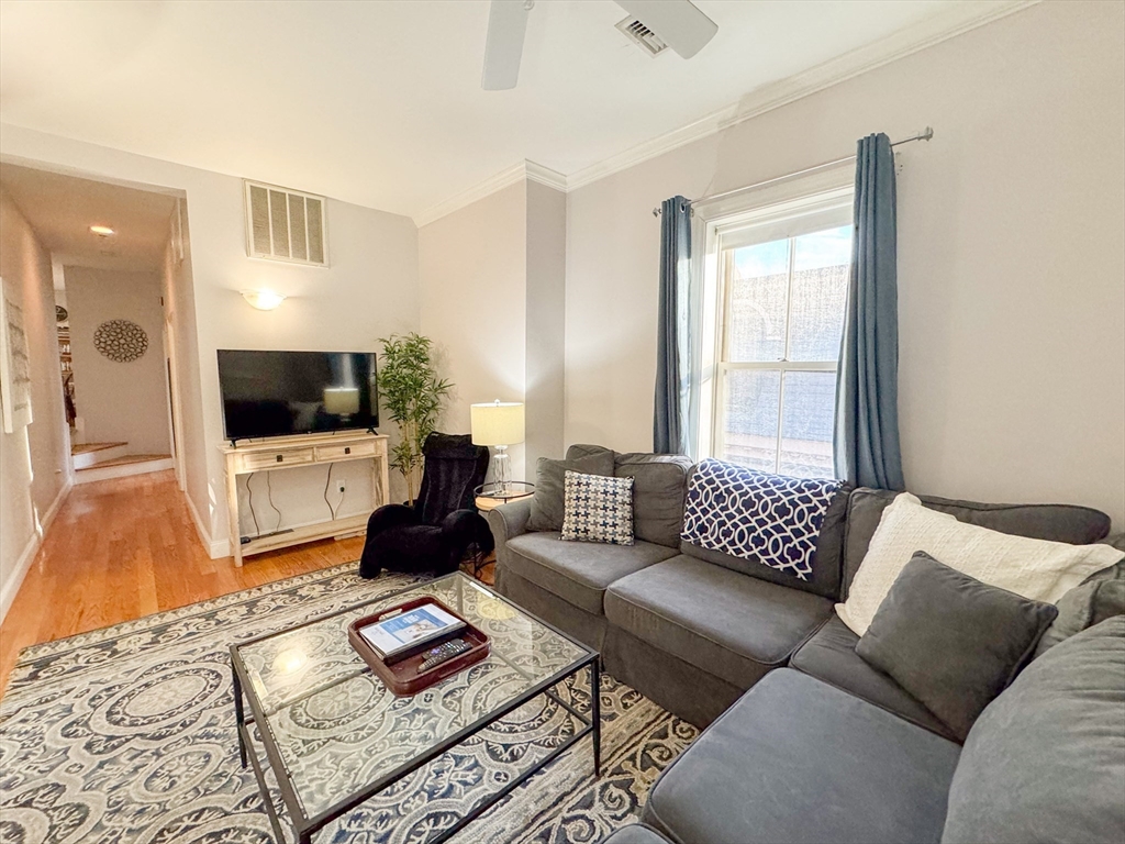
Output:
[[[567,459],[598,451],[572,446]],[[562,542],[528,531],[530,500],[496,508],[496,587],[602,653],[605,670],[703,727],[775,668],[791,667],[938,736],[947,728],[855,653],[858,637],[832,605],[847,595],[883,509],[894,494],[843,490],[829,505],[810,582],[680,539],[691,463],[616,454],[634,478],[631,547]],[[935,510],[1006,533],[1084,545],[1109,532],[1099,511],[922,497]],[[793,680],[791,682],[803,682]]]

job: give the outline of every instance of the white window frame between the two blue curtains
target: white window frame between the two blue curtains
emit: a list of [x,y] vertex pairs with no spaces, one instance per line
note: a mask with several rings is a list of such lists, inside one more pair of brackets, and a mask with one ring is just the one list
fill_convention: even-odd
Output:
[[[696,459],[723,454],[723,422],[726,413],[726,392],[729,372],[732,370],[777,371],[778,385],[778,419],[774,469],[780,468],[781,445],[784,432],[785,374],[790,371],[836,372],[839,361],[791,361],[792,294],[793,266],[795,249],[793,243],[789,250],[789,286],[785,307],[785,347],[784,357],[776,361],[731,361],[728,360],[730,343],[730,296],[734,285],[728,284],[729,267],[734,250],[729,249],[730,235],[738,232],[746,239],[746,232],[759,227],[763,232],[784,231],[786,225],[801,228],[809,217],[821,217],[828,222],[819,227],[799,231],[793,234],[764,236],[759,242],[772,242],[786,237],[796,237],[814,231],[822,231],[853,223],[850,212],[854,201],[854,169],[842,167],[828,169],[804,178],[782,180],[771,183],[760,190],[748,191],[738,198],[721,203],[698,204],[693,232],[696,243],[704,244],[696,252],[695,278],[702,279],[699,286],[701,317],[699,320],[698,343],[693,350],[693,386],[698,393],[698,425],[695,437]],[[847,213],[846,223],[831,222],[834,215]],[[728,235],[728,249],[724,255],[723,235]],[[745,244],[744,244],[745,245]]]

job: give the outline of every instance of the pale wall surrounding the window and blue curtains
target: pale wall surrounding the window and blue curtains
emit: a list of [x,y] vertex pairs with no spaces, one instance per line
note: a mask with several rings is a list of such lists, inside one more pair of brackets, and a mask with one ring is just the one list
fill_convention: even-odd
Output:
[[651,448],[655,205],[900,147],[909,486],[1125,524],[1122,3],[1042,3],[568,196],[566,439]]

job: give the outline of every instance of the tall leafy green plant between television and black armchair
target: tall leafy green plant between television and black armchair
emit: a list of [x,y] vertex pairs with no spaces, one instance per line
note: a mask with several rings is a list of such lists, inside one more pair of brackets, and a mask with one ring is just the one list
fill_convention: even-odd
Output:
[[415,484],[422,477],[422,446],[438,427],[442,402],[453,385],[438,377],[430,338],[411,332],[379,342],[379,396],[399,433],[398,445],[390,450],[390,466],[406,481],[407,503],[413,506]]

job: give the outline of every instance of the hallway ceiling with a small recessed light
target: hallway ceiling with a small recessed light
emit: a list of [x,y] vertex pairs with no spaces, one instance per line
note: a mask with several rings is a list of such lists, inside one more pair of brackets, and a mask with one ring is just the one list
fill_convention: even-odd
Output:
[[[174,197],[14,164],[0,164],[0,186],[63,263],[120,270],[163,266]],[[116,234],[100,237],[92,225],[108,225]]]

